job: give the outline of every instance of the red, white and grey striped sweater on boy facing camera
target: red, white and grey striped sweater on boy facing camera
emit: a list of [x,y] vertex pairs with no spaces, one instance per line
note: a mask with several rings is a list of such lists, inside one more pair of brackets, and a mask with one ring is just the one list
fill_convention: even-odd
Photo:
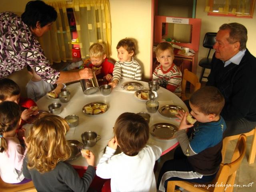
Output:
[[158,80],[161,87],[180,96],[182,74],[174,63],[167,71],[164,71],[162,66],[158,65],[153,73],[153,80]]

